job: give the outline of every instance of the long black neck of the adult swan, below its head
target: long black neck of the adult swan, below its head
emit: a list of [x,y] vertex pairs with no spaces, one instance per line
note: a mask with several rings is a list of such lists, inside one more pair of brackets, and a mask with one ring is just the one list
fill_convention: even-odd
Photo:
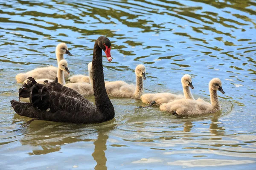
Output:
[[115,110],[106,92],[102,65],[102,49],[99,47],[98,42],[99,39],[96,40],[93,48],[93,91],[95,105],[97,110],[106,116],[106,120],[110,120],[115,116]]

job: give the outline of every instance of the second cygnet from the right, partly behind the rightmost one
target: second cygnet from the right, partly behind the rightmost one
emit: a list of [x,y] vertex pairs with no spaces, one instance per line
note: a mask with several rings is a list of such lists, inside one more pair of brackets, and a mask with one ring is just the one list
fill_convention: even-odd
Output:
[[[194,99],[193,95],[190,92],[190,88],[194,89],[192,85],[192,78],[189,74],[185,74],[181,78],[181,84],[183,86],[183,93],[186,99]],[[172,102],[177,99],[184,99],[183,95],[176,95],[172,93],[156,93],[156,94],[143,94],[140,99],[143,103],[150,104],[151,102],[155,101],[155,105],[162,105],[163,103]]]

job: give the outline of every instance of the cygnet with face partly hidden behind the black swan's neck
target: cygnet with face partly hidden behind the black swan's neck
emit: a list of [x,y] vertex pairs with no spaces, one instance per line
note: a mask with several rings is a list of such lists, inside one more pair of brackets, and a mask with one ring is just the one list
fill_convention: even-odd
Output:
[[69,78],[70,82],[87,82],[89,84],[93,84],[92,79],[93,79],[93,64],[92,62],[89,62],[88,64],[88,72],[89,76],[85,76],[82,74],[79,75],[74,75]]

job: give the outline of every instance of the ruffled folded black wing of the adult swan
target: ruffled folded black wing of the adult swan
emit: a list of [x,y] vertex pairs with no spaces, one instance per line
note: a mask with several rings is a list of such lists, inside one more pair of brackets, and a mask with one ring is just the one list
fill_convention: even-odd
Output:
[[57,78],[54,82],[49,83],[48,86],[33,85],[30,102],[33,107],[38,108],[40,111],[50,111],[51,113],[56,111],[73,113],[76,111],[86,111],[87,107],[95,108],[81,94],[59,84]]

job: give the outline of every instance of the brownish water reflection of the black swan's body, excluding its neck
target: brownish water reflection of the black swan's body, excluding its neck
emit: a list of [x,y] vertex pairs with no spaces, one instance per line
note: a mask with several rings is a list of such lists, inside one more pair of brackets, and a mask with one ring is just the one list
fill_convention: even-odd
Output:
[[[14,119],[20,119],[20,116],[15,114]],[[26,120],[27,118],[24,122]],[[87,127],[87,125],[62,122],[34,121],[26,127],[26,131],[20,129],[20,132],[24,133],[20,143],[32,147],[29,155],[54,153],[60,151],[66,144],[92,141],[93,139],[88,139],[86,136],[95,133],[95,130]]]

